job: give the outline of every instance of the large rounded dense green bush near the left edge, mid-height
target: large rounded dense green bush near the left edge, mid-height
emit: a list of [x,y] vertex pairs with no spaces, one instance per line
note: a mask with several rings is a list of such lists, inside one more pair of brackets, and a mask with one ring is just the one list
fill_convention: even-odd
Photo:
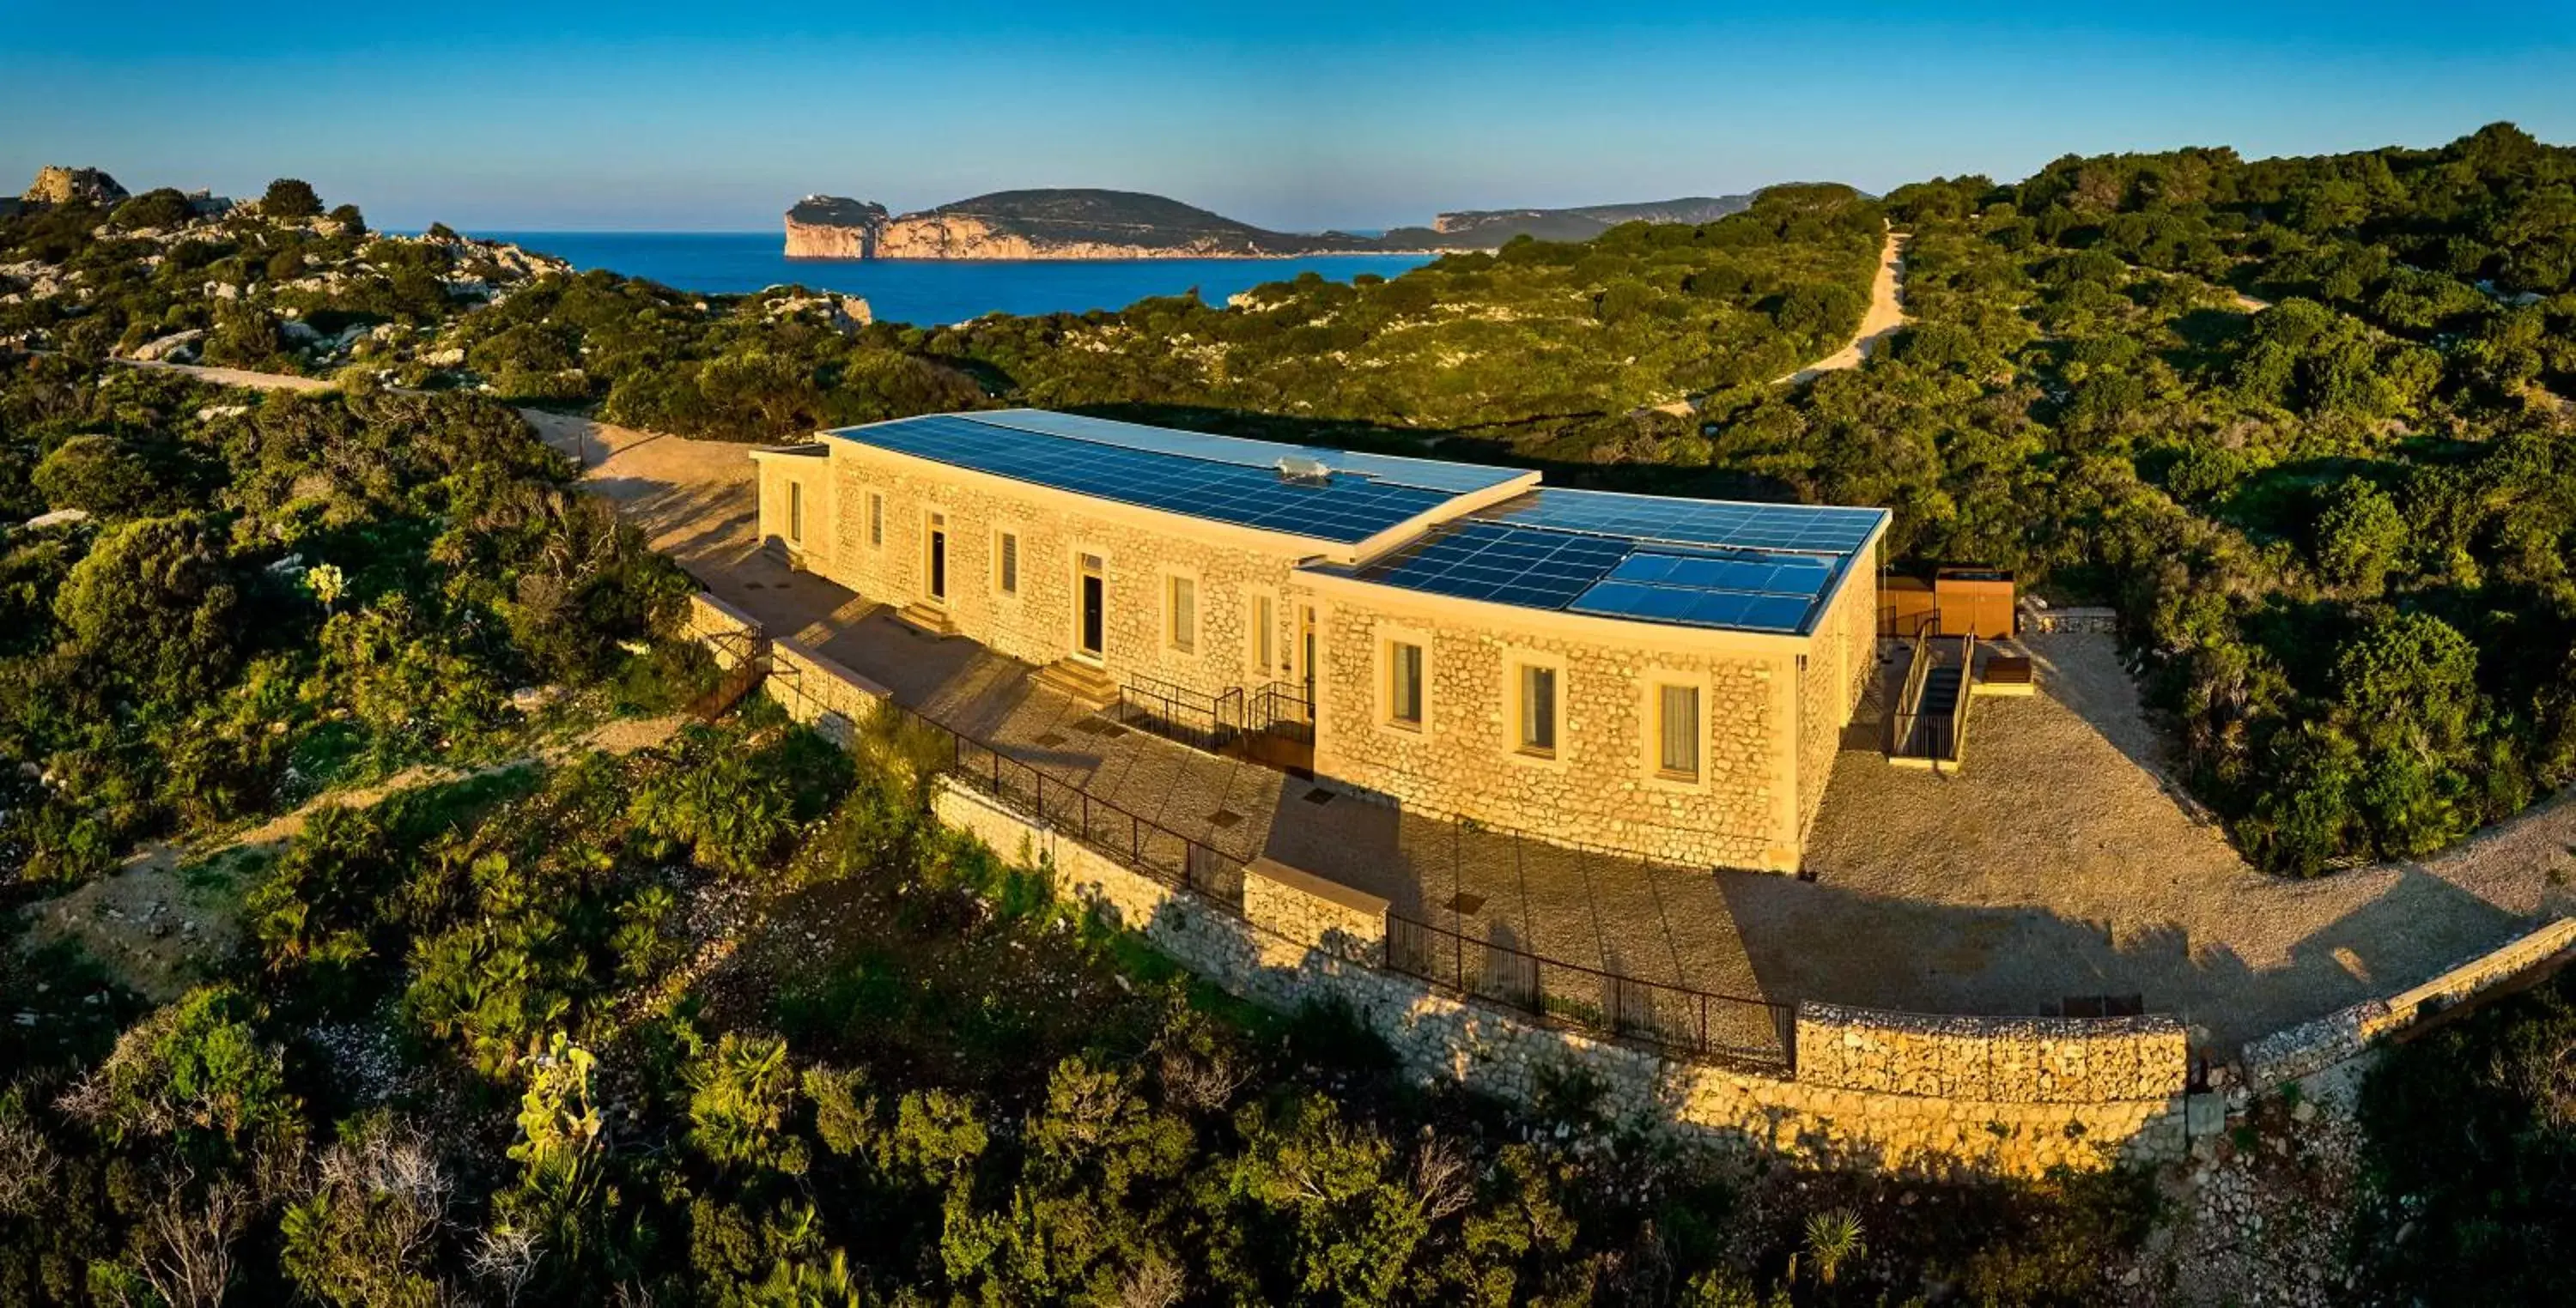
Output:
[[237,659],[232,569],[206,518],[139,518],[106,536],[54,595],[64,646],[152,698],[191,698]]

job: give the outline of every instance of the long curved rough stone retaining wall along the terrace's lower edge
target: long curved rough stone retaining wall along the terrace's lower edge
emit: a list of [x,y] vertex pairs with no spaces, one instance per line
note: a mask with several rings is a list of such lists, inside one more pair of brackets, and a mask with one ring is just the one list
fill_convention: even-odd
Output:
[[[1625,1125],[1759,1151],[1811,1164],[1891,1172],[1978,1172],[2035,1177],[2050,1166],[2161,1161],[2184,1154],[2179,1040],[2164,1025],[2120,1022],[2092,1038],[2053,1032],[2050,1048],[2081,1048],[2045,1084],[2022,1084],[1989,1058],[1981,1079],[1950,1076],[1942,1094],[1862,1089],[1798,1076],[1759,1076],[1713,1063],[1548,1025],[1494,1004],[1440,994],[1376,963],[1383,950],[1383,904],[1293,868],[1260,860],[1244,870],[1244,914],[1203,899],[1056,832],[1030,824],[958,783],[935,798],[943,824],[969,832],[999,855],[1046,865],[1061,893],[1092,904],[1115,924],[1141,932],[1198,976],[1265,1007],[1342,999],[1396,1056],[1425,1079],[1458,1079],[1484,1092],[1530,1102],[1543,1084],[1582,1076],[1600,1092],[1600,1110]],[[1893,1014],[1855,1009],[1801,1012],[1801,1061],[1808,1043],[1834,1043],[1852,1022],[1888,1038]],[[2025,1032],[2012,1027],[2014,1048]],[[1955,1066],[1965,1032],[1932,1038],[1942,1066]],[[2125,1056],[2117,1045],[2138,1045]],[[1891,1058],[1917,1058],[1906,1048]],[[2172,1056],[2172,1069],[2161,1061]],[[2081,1063],[2081,1071],[2069,1071]],[[2128,1066],[2115,1076],[2115,1063]],[[1850,1061],[1842,1063],[1847,1079]],[[2032,1074],[2038,1074],[2032,1063]],[[1899,1079],[1904,1074],[1899,1071]],[[2107,1089],[2169,1097],[2102,1097]],[[1994,1097],[1978,1097],[1994,1092]],[[2076,1099],[2050,1102],[2050,1094]]]

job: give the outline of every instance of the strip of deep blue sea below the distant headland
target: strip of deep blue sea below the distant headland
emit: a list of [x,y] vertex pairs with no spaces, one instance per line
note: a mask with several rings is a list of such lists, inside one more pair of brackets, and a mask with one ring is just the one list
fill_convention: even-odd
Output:
[[809,286],[866,296],[884,322],[925,327],[971,317],[1126,309],[1146,296],[1226,304],[1226,296],[1314,270],[1334,281],[1391,278],[1427,255],[1314,255],[1293,260],[788,260],[778,232],[474,232],[541,250],[580,270],[608,268],[698,294]]

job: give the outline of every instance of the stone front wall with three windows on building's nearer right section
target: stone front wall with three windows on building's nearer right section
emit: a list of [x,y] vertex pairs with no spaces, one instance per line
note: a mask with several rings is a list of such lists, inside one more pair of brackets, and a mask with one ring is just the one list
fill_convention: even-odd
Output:
[[[1798,865],[1798,664],[1790,654],[1641,651],[1406,613],[1337,590],[1321,626],[1316,772],[1551,839],[1713,868]],[[1388,726],[1386,641],[1425,646],[1422,729]],[[1556,757],[1520,752],[1517,667],[1558,669]],[[1700,780],[1654,775],[1656,677],[1700,687]]]

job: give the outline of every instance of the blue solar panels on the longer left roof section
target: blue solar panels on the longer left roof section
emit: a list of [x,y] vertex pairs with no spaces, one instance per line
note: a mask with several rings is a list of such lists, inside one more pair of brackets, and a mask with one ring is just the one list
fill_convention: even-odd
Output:
[[1450,500],[1448,492],[1347,471],[1324,481],[1283,481],[1270,466],[1066,440],[963,415],[904,417],[827,435],[1038,487],[1337,543],[1368,541]]

